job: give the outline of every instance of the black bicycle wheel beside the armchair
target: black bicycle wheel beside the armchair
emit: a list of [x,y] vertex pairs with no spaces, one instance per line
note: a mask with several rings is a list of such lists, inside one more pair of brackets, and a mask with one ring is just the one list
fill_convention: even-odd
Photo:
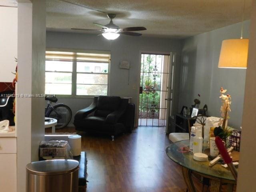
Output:
[[49,113],[48,117],[56,119],[58,122],[55,128],[60,129],[68,125],[72,117],[72,112],[67,105],[56,104],[53,106],[53,109]]

